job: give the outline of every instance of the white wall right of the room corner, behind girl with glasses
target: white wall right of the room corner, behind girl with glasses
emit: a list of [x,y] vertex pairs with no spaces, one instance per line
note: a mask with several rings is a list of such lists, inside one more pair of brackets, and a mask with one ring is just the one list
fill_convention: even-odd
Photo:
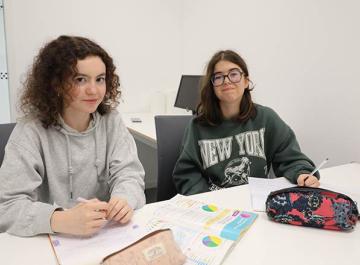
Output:
[[328,166],[360,161],[360,2],[184,1],[183,72],[219,49],[246,59],[257,103],[275,109],[302,150]]

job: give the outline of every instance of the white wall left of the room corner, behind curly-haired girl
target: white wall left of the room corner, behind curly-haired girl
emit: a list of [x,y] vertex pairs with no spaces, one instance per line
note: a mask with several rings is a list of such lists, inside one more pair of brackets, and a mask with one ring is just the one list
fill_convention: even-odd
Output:
[[120,109],[148,111],[154,91],[178,86],[180,10],[177,0],[5,0],[12,113],[33,57],[61,34],[102,45],[120,75]]

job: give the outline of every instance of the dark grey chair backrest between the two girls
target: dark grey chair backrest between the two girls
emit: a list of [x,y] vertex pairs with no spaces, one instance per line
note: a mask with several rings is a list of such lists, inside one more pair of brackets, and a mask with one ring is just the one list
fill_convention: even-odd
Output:
[[158,178],[157,201],[168,200],[177,194],[172,173],[180,154],[185,128],[191,115],[155,116]]

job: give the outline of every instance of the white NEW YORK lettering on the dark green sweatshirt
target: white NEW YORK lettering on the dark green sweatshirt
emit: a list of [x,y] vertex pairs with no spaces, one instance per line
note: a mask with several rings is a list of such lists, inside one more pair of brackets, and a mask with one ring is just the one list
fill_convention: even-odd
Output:
[[[266,160],[264,132],[265,128],[261,128],[260,130],[246,131],[226,138],[198,141],[204,169],[229,159],[234,144],[239,147],[238,157],[256,156]],[[235,143],[233,144],[233,142]]]

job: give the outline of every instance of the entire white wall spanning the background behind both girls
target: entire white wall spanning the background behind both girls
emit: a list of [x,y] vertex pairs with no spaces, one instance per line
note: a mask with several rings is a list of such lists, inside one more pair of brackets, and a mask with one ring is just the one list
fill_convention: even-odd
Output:
[[5,0],[12,108],[38,48],[59,34],[113,55],[124,111],[149,110],[156,91],[176,90],[181,73],[201,74],[230,48],[248,62],[255,101],[315,163],[360,161],[359,10],[357,0]]

